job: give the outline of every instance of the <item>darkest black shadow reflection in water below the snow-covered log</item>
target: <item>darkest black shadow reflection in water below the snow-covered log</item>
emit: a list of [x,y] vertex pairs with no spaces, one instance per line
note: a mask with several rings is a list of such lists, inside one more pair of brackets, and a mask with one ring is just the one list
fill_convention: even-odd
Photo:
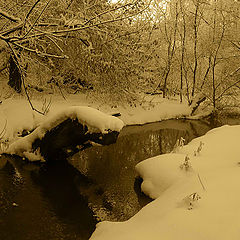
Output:
[[67,161],[49,162],[31,177],[51,203],[54,213],[66,225],[66,234],[72,232],[76,235],[67,236],[67,239],[78,239],[79,236],[88,239],[97,221],[88,207],[88,199],[79,191],[79,182],[82,187],[91,188],[91,181]]

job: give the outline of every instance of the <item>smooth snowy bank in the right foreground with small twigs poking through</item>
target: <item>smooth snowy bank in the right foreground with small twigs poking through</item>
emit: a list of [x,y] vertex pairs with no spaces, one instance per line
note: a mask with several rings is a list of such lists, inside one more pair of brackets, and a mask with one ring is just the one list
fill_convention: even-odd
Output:
[[140,162],[142,190],[155,200],[126,222],[102,222],[91,240],[238,240],[240,126],[223,126]]

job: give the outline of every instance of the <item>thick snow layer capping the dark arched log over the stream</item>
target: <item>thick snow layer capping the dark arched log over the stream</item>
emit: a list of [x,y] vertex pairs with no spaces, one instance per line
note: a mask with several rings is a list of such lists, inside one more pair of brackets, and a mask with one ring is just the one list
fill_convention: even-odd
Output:
[[19,138],[6,150],[7,154],[16,154],[29,160],[43,160],[39,149],[33,151],[33,143],[43,139],[45,134],[67,119],[78,120],[83,126],[87,126],[90,133],[108,133],[109,131],[120,132],[124,123],[113,116],[107,115],[97,109],[86,106],[72,106],[60,112],[46,117],[44,121],[29,135]]

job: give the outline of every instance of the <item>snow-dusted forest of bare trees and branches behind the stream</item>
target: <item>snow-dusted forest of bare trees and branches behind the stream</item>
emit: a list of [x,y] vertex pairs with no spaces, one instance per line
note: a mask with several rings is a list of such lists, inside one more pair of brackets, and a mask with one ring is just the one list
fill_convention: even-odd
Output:
[[239,12],[239,0],[1,0],[0,100],[8,83],[29,100],[162,94],[238,107]]

